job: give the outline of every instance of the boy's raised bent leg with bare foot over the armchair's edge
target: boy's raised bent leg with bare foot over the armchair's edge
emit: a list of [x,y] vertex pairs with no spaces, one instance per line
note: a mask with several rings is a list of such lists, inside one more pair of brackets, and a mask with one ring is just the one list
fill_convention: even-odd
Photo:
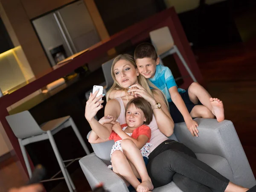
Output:
[[207,90],[204,89],[203,86],[197,82],[193,82],[189,86],[188,94],[191,102],[198,104],[199,100],[216,116],[218,122],[224,120],[224,107],[222,101],[217,98],[212,98],[212,96],[208,93]]

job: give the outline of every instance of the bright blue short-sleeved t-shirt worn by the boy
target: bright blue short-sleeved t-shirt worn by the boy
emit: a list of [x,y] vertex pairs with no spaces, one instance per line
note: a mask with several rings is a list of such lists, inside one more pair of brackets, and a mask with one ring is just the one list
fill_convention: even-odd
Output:
[[[149,78],[149,81],[153,83],[155,86],[157,86],[163,93],[165,94],[168,102],[172,102],[169,88],[173,86],[177,86],[175,79],[172,75],[171,70],[169,67],[163,66],[161,64],[158,64],[156,67],[156,73],[153,78]],[[186,90],[183,90],[181,88],[178,88],[179,93],[184,93]]]

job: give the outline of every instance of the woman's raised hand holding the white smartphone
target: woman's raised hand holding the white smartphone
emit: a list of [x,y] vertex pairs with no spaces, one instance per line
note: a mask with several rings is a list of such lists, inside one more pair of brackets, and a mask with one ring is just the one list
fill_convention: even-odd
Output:
[[93,94],[90,93],[90,97],[86,102],[84,116],[88,122],[90,122],[94,118],[94,116],[96,116],[96,113],[103,108],[103,105],[100,104],[102,104],[104,101],[99,101],[99,99],[104,97],[105,94],[96,97],[98,92],[99,90],[96,90]]

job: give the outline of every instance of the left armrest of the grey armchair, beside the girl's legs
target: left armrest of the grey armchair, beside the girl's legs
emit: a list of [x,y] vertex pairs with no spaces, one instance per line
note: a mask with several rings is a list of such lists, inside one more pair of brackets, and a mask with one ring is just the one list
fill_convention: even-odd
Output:
[[116,175],[111,169],[108,169],[108,166],[99,159],[95,153],[91,153],[81,158],[79,164],[92,189],[102,182],[104,188],[108,189],[110,192],[128,192],[124,180]]

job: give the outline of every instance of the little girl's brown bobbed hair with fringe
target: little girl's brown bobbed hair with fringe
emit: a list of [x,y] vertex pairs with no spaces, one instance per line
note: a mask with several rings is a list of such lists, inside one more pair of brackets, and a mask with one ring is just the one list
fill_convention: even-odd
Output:
[[141,97],[136,97],[134,99],[131,99],[125,108],[125,116],[126,116],[126,111],[127,109],[131,106],[131,104],[134,104],[136,108],[140,109],[146,118],[146,121],[143,123],[145,125],[149,125],[150,122],[153,119],[153,110],[151,108],[151,105],[149,102],[147,102],[145,99]]

